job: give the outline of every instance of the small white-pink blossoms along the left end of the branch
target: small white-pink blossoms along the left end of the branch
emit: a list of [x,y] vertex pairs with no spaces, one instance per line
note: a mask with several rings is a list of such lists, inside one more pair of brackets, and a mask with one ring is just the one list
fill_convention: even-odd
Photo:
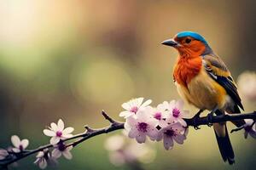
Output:
[[[47,165],[54,166],[57,163],[57,159],[61,156],[64,156],[68,160],[72,159],[72,154],[70,150],[73,149],[72,145],[64,144],[65,139],[73,137],[73,127],[64,128],[64,122],[60,119],[57,123],[52,122],[48,129],[44,129],[44,134],[51,137],[49,144],[53,145],[53,150],[50,152],[49,149],[39,150],[36,156],[35,164],[38,165],[41,169],[47,167]],[[26,153],[26,150],[29,140],[20,139],[17,135],[11,137],[11,142],[13,147],[9,150],[0,149],[0,161],[9,156],[20,156],[23,153]]]

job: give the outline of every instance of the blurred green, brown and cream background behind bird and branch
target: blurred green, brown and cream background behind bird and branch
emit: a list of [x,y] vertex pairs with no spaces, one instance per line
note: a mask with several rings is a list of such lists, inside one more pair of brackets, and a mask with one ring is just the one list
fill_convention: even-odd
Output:
[[[178,31],[206,37],[235,80],[244,71],[255,71],[255,6],[253,0],[0,0],[1,147],[9,146],[13,134],[30,139],[29,149],[47,144],[43,129],[59,118],[75,127],[74,133],[83,132],[84,124],[108,125],[102,110],[122,121],[120,105],[131,98],[153,99],[153,105],[179,99],[172,82],[177,51],[160,45]],[[245,111],[255,110],[252,93],[252,99],[242,96]],[[57,168],[128,169],[109,161],[107,138],[84,142],[73,150],[72,161],[61,159]],[[253,169],[255,140],[244,139],[242,132],[230,139],[236,152],[233,167],[223,163],[209,127],[190,128],[185,144],[173,150],[154,144],[154,160],[142,166]],[[38,169],[34,159],[19,161],[16,169]]]

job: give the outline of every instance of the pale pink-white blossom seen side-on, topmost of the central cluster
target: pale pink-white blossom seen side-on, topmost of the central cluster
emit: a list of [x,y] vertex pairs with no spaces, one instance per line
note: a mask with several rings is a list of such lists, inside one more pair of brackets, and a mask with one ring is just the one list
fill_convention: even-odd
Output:
[[138,111],[142,111],[146,106],[150,105],[152,102],[151,99],[146,100],[143,103],[143,98],[131,99],[130,101],[124,103],[122,107],[126,111],[122,111],[119,113],[119,116],[123,116],[125,118],[129,116],[136,115]]

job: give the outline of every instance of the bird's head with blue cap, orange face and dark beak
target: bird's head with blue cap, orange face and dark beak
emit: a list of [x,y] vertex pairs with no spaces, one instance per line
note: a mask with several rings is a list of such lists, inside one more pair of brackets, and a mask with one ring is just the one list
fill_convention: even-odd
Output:
[[212,53],[212,49],[205,38],[193,31],[179,32],[175,37],[162,42],[162,44],[176,48],[181,57],[194,57]]

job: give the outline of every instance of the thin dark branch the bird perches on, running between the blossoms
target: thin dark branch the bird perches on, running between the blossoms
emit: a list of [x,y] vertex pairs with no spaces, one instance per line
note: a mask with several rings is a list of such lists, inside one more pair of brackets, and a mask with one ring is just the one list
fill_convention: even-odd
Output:
[[[86,129],[84,133],[79,133],[74,135],[73,137],[69,139],[62,140],[63,143],[68,142],[72,139],[77,139],[74,142],[67,144],[67,146],[73,146],[75,147],[78,144],[81,144],[87,139],[90,139],[92,137],[95,137],[97,135],[103,134],[103,133],[110,133],[119,129],[124,129],[124,122],[118,122],[115,121],[113,118],[108,116],[108,114],[105,111],[102,111],[102,116],[108,122],[110,122],[110,125],[108,127],[102,127],[98,129],[94,129],[89,127],[88,125],[84,126]],[[187,122],[188,126],[200,126],[200,125],[209,125],[210,123],[216,123],[216,122],[228,122],[228,121],[237,121],[237,120],[243,120],[243,119],[253,119],[254,122],[256,120],[256,111],[253,111],[252,113],[245,113],[245,114],[232,114],[232,115],[222,115],[222,116],[211,116],[211,119],[209,119],[208,116],[203,117],[193,117],[189,119],[184,119],[185,122]],[[242,127],[239,127],[242,129]],[[237,130],[234,130],[237,131]],[[38,153],[39,151],[43,151],[45,149],[53,148],[54,145],[52,144],[46,144],[39,146],[35,150],[24,150],[19,154],[16,154],[14,152],[9,152],[10,155],[14,155],[11,157],[7,157],[4,160],[0,160],[0,167],[8,167],[9,164],[14,163],[15,161],[19,161],[27,156],[31,156],[35,153]]]

